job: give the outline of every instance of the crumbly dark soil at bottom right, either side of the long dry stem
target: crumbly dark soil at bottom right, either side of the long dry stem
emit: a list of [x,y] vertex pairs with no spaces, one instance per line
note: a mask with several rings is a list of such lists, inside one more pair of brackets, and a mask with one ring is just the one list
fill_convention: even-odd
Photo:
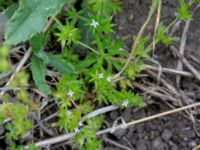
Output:
[[[121,115],[126,122],[129,122],[167,110],[169,108],[163,104],[153,104],[138,111],[129,108],[121,112],[111,112],[107,120],[110,123],[114,122]],[[122,145],[132,146],[130,148],[133,150],[189,150],[200,143],[193,124],[181,114],[165,116],[135,125],[127,130],[120,129],[108,137]],[[108,143],[106,147],[108,150],[121,150]]]

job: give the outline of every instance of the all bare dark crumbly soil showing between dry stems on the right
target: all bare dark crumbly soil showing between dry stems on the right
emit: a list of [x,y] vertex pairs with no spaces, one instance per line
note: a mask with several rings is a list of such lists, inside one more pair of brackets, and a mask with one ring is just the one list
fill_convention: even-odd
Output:
[[[151,1],[149,0],[127,0],[124,2],[123,11],[115,17],[117,35],[120,37],[129,35],[126,42],[129,50],[133,42],[132,36],[137,34],[144,23],[150,4]],[[178,0],[163,0],[161,20],[164,24],[167,25],[175,18],[177,4]],[[153,23],[150,24],[146,32],[153,33],[153,25]],[[181,37],[183,27],[184,23],[181,24],[180,29],[175,33],[177,37]],[[194,66],[196,64],[197,70],[200,70],[197,62],[194,63],[190,59],[190,56],[195,56],[197,60],[200,60],[200,9],[195,12],[187,35],[185,57]],[[178,48],[179,42],[175,46]],[[159,49],[156,49],[156,54],[158,55],[157,61],[162,66],[176,69],[178,59],[173,56],[169,48],[161,46]],[[176,86],[174,76],[166,75],[166,77]],[[182,78],[180,90],[190,93],[188,96],[196,102],[200,100],[199,85],[199,81],[195,79]],[[134,111],[134,108],[113,111],[108,114],[106,120],[112,126],[119,116],[122,116],[126,122],[129,122],[170,109],[161,100],[154,99],[152,101],[160,101],[160,103],[153,103],[138,111]],[[138,124],[127,130],[118,130],[114,134],[108,135],[108,138],[133,150],[189,150],[200,144],[200,138],[196,135],[192,122],[183,117],[183,112]],[[105,147],[108,150],[122,149],[108,142],[105,142]]]

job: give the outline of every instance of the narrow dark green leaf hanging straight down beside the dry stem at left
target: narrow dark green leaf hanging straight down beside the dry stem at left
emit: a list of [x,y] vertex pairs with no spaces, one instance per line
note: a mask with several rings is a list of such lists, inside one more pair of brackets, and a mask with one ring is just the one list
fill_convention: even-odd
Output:
[[31,71],[33,75],[33,80],[39,90],[45,94],[50,94],[51,89],[47,85],[45,80],[46,66],[43,61],[35,56],[32,57]]

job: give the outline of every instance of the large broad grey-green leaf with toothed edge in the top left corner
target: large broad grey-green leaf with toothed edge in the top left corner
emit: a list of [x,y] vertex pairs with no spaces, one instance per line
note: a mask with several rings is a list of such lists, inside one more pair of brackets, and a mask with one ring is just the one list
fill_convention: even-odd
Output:
[[65,2],[68,0],[21,0],[7,24],[5,43],[17,44],[41,32],[47,18],[58,13]]

